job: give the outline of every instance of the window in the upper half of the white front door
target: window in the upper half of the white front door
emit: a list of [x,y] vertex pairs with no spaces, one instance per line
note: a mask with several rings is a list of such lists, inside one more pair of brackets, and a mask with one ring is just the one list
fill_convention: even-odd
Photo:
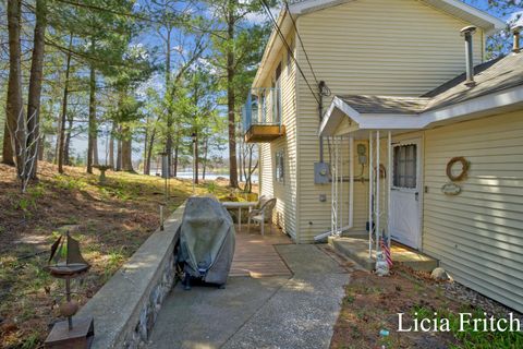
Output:
[[416,163],[417,146],[415,144],[399,145],[394,147],[393,185],[396,188],[416,188]]

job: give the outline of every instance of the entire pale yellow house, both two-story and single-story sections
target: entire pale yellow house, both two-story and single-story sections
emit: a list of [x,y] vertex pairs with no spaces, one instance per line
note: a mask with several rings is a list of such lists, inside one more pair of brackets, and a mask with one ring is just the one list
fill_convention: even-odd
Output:
[[[260,193],[299,243],[381,236],[523,311],[523,53],[453,0],[294,1],[247,98]],[[464,73],[466,72],[466,74]]]

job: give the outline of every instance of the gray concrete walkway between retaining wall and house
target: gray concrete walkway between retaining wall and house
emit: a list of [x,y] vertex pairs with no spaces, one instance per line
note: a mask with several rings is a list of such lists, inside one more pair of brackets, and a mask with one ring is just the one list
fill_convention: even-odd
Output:
[[179,285],[148,348],[328,348],[349,274],[316,245],[277,245],[291,277],[230,277],[227,288]]

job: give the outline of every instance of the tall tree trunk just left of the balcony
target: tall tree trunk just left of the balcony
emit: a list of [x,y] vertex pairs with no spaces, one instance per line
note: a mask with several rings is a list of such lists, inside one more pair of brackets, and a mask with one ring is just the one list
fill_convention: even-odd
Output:
[[[234,0],[229,0],[228,14],[228,39],[234,39]],[[238,188],[238,164],[236,164],[236,120],[234,108],[236,105],[234,91],[234,50],[230,45],[227,48],[227,108],[229,121],[229,185]]]

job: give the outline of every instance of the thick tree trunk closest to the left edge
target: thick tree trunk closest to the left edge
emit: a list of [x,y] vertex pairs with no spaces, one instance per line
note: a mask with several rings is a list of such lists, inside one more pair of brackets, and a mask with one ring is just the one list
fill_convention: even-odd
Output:
[[23,145],[21,141],[25,140],[25,116],[22,99],[22,49],[20,43],[21,13],[21,0],[8,1],[9,82],[5,120],[11,130],[11,132],[9,132],[11,135],[10,143],[12,143],[13,140],[15,140],[15,142],[12,144],[14,152],[11,152],[11,157],[9,153],[3,154],[3,161],[8,165],[14,164],[12,161],[14,157],[19,177],[22,176],[24,164],[24,160],[20,157],[20,149]]

